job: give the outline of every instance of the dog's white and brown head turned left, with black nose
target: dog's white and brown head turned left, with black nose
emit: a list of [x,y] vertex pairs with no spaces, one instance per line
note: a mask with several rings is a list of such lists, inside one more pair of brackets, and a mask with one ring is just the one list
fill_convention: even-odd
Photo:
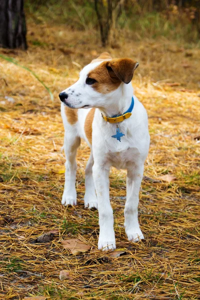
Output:
[[70,108],[104,107],[122,84],[128,84],[138,62],[130,58],[112,59],[107,52],[87,64],[79,79],[59,94]]

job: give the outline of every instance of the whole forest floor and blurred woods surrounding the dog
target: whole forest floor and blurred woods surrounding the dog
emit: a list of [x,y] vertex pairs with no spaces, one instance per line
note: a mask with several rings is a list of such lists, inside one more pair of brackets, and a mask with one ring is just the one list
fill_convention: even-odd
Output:
[[[0,0],[0,299],[199,299],[199,11],[199,0]],[[139,62],[151,138],[142,242],[123,228],[126,174],[110,172],[113,253],[97,250],[98,213],[83,206],[84,142],[77,206],[60,203],[58,93],[103,51]],[[71,255],[68,238],[92,248]]]

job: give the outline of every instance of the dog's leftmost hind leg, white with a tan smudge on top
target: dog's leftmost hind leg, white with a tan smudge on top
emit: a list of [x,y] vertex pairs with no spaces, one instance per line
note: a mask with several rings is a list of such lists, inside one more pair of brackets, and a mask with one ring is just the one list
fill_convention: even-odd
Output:
[[65,162],[65,182],[61,203],[63,205],[76,205],[75,175],[76,161],[75,155],[80,144],[80,137],[75,135],[73,130],[65,130],[64,133],[64,152]]

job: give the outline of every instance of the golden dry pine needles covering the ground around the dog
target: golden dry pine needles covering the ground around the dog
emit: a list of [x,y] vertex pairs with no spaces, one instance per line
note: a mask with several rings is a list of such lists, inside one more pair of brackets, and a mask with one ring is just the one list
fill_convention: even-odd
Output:
[[[60,204],[64,154],[57,94],[75,82],[77,63],[89,62],[89,56],[93,58],[99,50],[92,42],[90,48],[82,44],[78,50],[74,48],[70,60],[60,50],[52,50],[56,36],[51,29],[50,47],[35,47],[29,41],[28,52],[1,49],[31,67],[51,88],[55,100],[49,100],[46,90],[28,72],[0,60],[0,299],[27,295],[52,299],[199,299],[199,143],[195,137],[200,135],[200,118],[194,74],[193,90],[188,90],[190,85],[180,73],[182,86],[155,84],[144,76],[144,70],[153,67],[153,57],[140,63],[141,75],[135,75],[133,85],[147,109],[151,136],[139,202],[139,222],[146,239],[139,243],[126,239],[125,172],[112,169],[110,199],[116,246],[125,251],[125,255],[112,258],[107,252],[93,251],[97,248],[98,213],[83,207],[84,167],[89,155],[84,142],[77,154],[77,206]],[[153,51],[158,51],[159,44],[157,41],[155,47],[154,41]],[[152,42],[146,41],[145,46],[151,55]],[[129,42],[125,49],[132,57],[135,43]],[[120,45],[108,50],[113,56],[124,56]],[[165,60],[160,65],[156,62],[154,76],[165,79],[170,72],[171,82],[177,81],[175,57],[184,60],[186,50],[176,54],[163,47],[160,51]],[[199,57],[199,50],[198,55],[196,49],[190,52]],[[188,59],[199,69],[199,58],[192,55]],[[190,80],[189,67],[184,78],[185,72]],[[4,99],[6,95],[14,102]],[[155,180],[167,173],[176,180]],[[56,230],[51,241],[34,242],[51,230]],[[61,244],[67,238],[79,238],[92,248],[71,255]],[[60,270],[68,271],[69,279],[61,281]]]

